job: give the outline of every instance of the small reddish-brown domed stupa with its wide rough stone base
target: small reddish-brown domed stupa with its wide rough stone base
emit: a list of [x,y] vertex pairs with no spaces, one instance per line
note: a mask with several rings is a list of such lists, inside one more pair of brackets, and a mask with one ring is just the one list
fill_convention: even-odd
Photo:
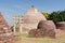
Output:
[[54,23],[52,20],[40,20],[38,24],[37,29],[31,29],[29,31],[30,38],[43,38],[43,37],[50,37],[50,38],[58,38],[61,37],[62,30],[56,29]]

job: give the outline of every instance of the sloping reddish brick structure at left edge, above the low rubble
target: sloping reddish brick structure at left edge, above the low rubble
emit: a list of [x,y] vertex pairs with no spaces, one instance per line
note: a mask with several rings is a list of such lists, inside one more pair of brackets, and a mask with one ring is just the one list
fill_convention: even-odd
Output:
[[2,32],[6,33],[6,32],[11,32],[11,30],[5,19],[3,18],[2,14],[0,13],[0,33]]

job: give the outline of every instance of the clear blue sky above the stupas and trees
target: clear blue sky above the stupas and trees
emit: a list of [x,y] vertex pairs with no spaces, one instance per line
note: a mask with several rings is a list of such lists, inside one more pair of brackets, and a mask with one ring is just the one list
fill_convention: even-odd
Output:
[[65,0],[0,0],[0,12],[9,26],[13,25],[12,16],[24,14],[31,5],[39,12],[65,10]]

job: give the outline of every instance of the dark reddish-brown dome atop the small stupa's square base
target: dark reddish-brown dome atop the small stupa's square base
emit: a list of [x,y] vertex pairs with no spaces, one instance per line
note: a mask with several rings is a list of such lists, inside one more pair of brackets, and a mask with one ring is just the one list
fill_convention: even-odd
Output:
[[52,20],[40,20],[38,29],[56,29],[56,27]]

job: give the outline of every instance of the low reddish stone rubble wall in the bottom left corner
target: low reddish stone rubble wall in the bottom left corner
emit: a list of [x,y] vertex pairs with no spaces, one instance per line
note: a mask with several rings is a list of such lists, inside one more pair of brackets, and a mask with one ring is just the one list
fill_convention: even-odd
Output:
[[13,43],[14,41],[21,40],[20,35],[11,33],[0,34],[0,43]]

